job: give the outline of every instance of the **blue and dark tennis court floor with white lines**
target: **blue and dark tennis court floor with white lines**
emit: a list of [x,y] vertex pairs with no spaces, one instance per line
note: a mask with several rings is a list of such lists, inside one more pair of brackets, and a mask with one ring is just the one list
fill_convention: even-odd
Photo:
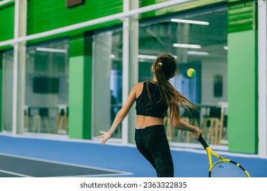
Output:
[[[100,141],[99,141],[100,143]],[[52,141],[0,135],[0,177],[156,177],[134,145],[95,141]],[[267,177],[267,158],[222,152],[251,177]],[[203,149],[172,148],[175,177],[207,177]]]

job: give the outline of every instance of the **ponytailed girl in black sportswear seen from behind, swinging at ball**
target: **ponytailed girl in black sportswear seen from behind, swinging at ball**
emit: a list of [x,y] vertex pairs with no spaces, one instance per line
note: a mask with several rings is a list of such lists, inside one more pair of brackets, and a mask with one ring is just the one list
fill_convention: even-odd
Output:
[[138,151],[155,168],[157,177],[174,177],[173,158],[164,129],[164,116],[167,110],[174,128],[191,132],[196,140],[199,139],[201,130],[180,118],[180,107],[187,109],[195,106],[168,82],[177,71],[175,58],[168,54],[159,55],[151,70],[154,74],[153,80],[137,83],[131,89],[125,105],[116,115],[110,130],[100,131],[103,135],[97,138],[103,138],[101,145],[104,145],[136,102],[135,140]]

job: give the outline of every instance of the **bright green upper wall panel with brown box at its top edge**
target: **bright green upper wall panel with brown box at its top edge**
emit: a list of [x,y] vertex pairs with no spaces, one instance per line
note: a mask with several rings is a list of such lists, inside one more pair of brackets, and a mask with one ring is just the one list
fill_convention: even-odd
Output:
[[[66,0],[28,1],[27,34],[49,31],[123,11],[123,0],[86,0],[83,5],[73,8],[66,8],[65,4]],[[116,20],[114,23],[121,23],[121,21]],[[113,25],[114,23],[103,25]]]

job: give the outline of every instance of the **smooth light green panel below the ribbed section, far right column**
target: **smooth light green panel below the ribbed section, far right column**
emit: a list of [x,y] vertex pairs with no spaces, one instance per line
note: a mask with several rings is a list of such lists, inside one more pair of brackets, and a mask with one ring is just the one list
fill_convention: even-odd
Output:
[[228,35],[229,151],[257,153],[256,31]]

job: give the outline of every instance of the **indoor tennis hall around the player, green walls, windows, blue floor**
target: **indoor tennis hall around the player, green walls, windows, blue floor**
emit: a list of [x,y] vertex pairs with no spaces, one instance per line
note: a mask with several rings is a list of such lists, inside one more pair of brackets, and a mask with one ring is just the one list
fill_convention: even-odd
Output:
[[[156,177],[135,104],[104,146],[96,137],[162,53],[198,108],[181,119],[267,177],[266,0],[2,0],[0,18],[0,177]],[[175,177],[209,177],[201,143],[164,123]]]

